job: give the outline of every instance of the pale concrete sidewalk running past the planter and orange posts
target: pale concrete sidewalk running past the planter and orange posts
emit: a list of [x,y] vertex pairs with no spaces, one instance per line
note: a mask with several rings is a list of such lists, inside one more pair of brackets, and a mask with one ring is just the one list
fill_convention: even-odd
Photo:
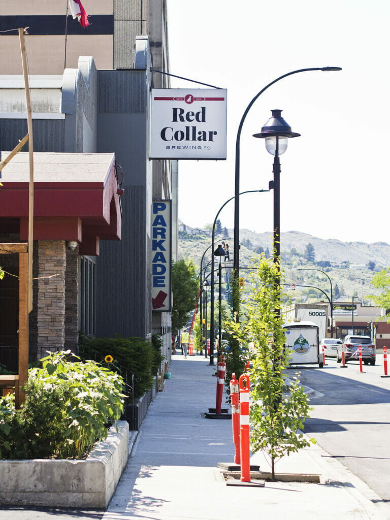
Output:
[[[320,484],[227,487],[217,463],[233,462],[231,421],[202,417],[215,406],[215,369],[201,356],[173,356],[172,379],[150,406],[103,520],[390,518],[387,505],[318,446],[280,460],[276,472],[320,474]],[[262,453],[251,460],[269,471]]]

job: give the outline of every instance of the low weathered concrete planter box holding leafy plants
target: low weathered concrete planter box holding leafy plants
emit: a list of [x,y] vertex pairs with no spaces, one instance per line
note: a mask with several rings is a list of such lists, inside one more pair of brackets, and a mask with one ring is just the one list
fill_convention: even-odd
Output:
[[1,460],[0,504],[106,509],[128,459],[128,424],[85,460]]

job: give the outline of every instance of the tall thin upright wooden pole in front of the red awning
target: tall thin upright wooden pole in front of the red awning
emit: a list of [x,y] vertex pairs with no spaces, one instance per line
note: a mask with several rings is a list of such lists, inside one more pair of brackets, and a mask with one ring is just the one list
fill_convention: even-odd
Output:
[[[32,310],[32,257],[34,248],[33,227],[34,227],[34,149],[33,149],[33,135],[32,135],[32,114],[31,114],[31,99],[30,86],[27,70],[27,56],[25,51],[23,29],[19,29],[20,51],[22,55],[23,77],[24,77],[24,91],[27,106],[27,130],[29,135],[29,159],[30,159],[30,181],[29,181],[29,268],[28,268],[28,312]],[[20,354],[19,354],[20,356]]]

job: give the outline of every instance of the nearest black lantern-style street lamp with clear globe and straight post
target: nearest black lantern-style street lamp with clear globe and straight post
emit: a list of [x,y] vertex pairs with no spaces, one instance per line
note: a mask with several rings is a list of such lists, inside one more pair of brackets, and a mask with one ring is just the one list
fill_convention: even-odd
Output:
[[287,150],[288,140],[299,137],[301,134],[291,132],[291,126],[282,118],[281,110],[271,110],[272,116],[262,127],[262,131],[253,134],[253,137],[265,139],[267,151],[274,155],[274,180],[270,181],[269,188],[274,189],[274,264],[279,270],[280,258],[280,161],[279,155]]

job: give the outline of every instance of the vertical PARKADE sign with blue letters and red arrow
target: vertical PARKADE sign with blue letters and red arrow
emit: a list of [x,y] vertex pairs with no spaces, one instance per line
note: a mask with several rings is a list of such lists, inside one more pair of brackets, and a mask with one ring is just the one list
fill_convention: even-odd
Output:
[[152,204],[152,309],[171,310],[171,201]]

